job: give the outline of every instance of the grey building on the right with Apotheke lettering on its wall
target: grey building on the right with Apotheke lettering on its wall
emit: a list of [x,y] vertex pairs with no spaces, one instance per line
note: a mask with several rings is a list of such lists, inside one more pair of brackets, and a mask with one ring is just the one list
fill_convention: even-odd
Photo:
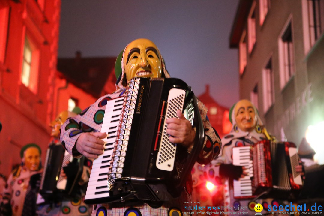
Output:
[[239,97],[270,133],[298,146],[324,121],[324,1],[241,0],[230,35],[238,49]]

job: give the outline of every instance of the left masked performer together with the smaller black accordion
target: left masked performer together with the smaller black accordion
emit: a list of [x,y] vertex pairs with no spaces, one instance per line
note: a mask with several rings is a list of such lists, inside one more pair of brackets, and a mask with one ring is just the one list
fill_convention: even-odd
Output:
[[88,215],[89,207],[82,197],[92,161],[86,157],[73,158],[58,140],[60,127],[67,118],[76,116],[76,112],[76,108],[74,112],[63,111],[50,124],[52,142],[46,152],[37,199],[40,216]]

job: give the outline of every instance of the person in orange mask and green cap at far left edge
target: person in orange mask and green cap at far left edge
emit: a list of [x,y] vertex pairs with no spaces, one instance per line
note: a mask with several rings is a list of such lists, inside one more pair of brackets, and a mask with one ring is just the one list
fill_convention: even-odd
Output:
[[[20,151],[21,165],[10,174],[3,193],[1,205],[4,215],[11,215],[8,206],[11,205],[12,215],[26,215],[36,206],[36,197],[29,196],[32,176],[41,173],[41,148],[35,143],[29,143]],[[26,196],[27,195],[27,196]],[[31,206],[30,206],[31,204]]]

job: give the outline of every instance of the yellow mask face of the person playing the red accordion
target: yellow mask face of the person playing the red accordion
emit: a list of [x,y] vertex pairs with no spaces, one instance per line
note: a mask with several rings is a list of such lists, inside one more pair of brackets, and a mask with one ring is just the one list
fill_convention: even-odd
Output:
[[253,104],[248,100],[240,100],[235,106],[235,120],[242,131],[252,131],[257,123],[257,115]]

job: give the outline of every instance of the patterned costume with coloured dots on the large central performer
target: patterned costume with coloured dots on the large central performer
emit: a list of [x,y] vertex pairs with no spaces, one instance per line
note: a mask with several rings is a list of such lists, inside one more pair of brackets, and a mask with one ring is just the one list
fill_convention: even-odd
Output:
[[[169,78],[168,71],[165,69],[164,60],[158,51],[162,63],[164,77]],[[106,103],[109,99],[123,96],[125,91],[125,70],[123,65],[123,58],[121,59],[122,73],[117,80],[117,90],[113,94],[108,94],[100,97],[94,104],[83,110],[78,116],[67,119],[61,127],[60,139],[64,147],[72,154],[72,148],[76,140],[83,132],[100,131],[102,119],[98,118],[98,114],[105,110]],[[221,141],[217,132],[212,128],[210,122],[206,119],[207,108],[202,102],[198,101],[198,106],[201,111],[203,124],[205,128],[205,142],[204,147],[199,155],[198,162],[201,164],[209,163],[215,156],[219,154],[221,148]],[[74,155],[80,157],[81,155]],[[94,205],[92,215],[183,215],[184,201],[190,201],[190,194],[192,191],[192,180],[188,179],[186,190],[183,190],[179,198],[164,202],[159,208],[152,208],[143,202],[126,202],[114,205],[100,204]],[[188,206],[188,205],[187,205]]]

